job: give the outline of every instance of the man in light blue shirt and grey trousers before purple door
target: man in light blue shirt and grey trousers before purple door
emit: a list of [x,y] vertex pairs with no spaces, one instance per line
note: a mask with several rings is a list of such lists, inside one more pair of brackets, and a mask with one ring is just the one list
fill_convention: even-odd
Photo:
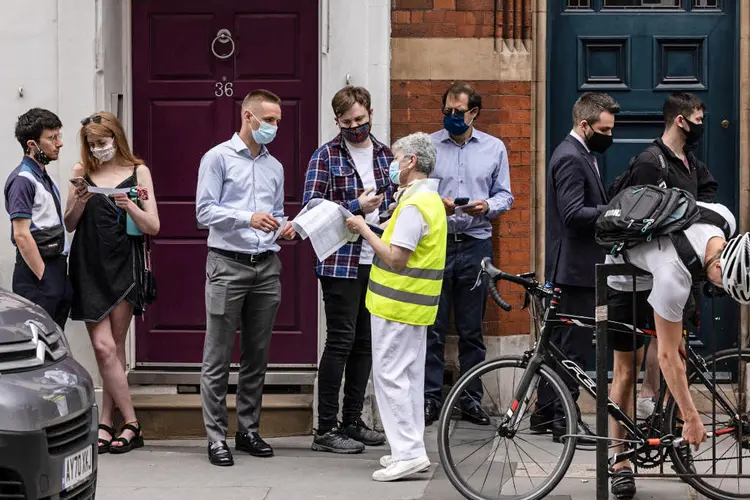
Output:
[[201,369],[201,405],[208,458],[229,466],[226,443],[227,383],[237,319],[242,358],[237,381],[235,449],[259,457],[273,449],[258,434],[268,346],[281,301],[278,236],[292,239],[284,215],[284,169],[266,144],[281,122],[280,99],[267,90],[242,103],[239,133],[201,159],[196,193],[198,223],[208,226],[206,338]]

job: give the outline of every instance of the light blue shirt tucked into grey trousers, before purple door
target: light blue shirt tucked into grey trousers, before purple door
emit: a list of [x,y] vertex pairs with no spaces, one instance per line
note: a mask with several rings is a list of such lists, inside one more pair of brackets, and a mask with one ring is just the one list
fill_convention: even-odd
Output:
[[255,212],[284,215],[284,168],[263,146],[253,158],[240,136],[211,148],[201,159],[195,213],[208,226],[208,246],[233,252],[278,252],[274,232],[250,226]]

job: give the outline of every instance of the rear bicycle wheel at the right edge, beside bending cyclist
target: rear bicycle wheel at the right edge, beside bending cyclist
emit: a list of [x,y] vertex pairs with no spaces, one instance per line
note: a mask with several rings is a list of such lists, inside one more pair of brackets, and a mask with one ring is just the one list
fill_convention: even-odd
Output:
[[[736,349],[728,349],[707,357],[707,372],[703,376],[709,381],[714,378],[714,362],[716,398],[721,397],[730,411],[717,401],[714,412],[711,388],[697,371],[688,374],[688,386],[706,431],[720,435],[709,438],[698,451],[670,449],[670,456],[678,474],[699,475],[681,479],[708,498],[750,499],[750,415],[746,394],[750,351],[743,350],[740,354]],[[665,416],[665,427],[679,436],[682,420],[673,397],[669,398]]]

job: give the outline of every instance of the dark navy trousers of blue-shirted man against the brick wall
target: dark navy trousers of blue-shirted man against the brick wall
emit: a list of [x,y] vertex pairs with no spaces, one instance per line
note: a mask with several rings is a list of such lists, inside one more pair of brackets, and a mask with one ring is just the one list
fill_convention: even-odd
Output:
[[[483,258],[492,258],[492,242],[469,240],[460,243],[451,241],[445,256],[443,290],[435,324],[427,330],[427,359],[425,366],[425,402],[438,407],[442,404],[445,369],[445,333],[450,322],[450,312],[458,333],[458,360],[461,375],[484,361],[486,349],[482,338],[482,322],[487,305],[487,280],[474,288],[480,263]],[[461,396],[464,409],[477,406],[482,401],[482,386],[479,381],[470,386]]]

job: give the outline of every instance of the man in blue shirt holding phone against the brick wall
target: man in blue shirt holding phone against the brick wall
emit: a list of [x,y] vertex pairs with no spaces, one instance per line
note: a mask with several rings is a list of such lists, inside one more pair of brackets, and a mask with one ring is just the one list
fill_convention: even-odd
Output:
[[[468,83],[455,82],[443,94],[444,129],[432,134],[437,164],[431,177],[440,179],[439,193],[448,215],[448,247],[438,316],[427,333],[427,425],[437,419],[442,404],[445,334],[451,308],[461,374],[484,361],[482,322],[487,286],[483,283],[474,288],[474,282],[481,260],[492,258],[492,219],[513,204],[505,145],[473,126],[481,110],[482,96]],[[479,406],[481,400],[481,386],[467,388],[461,397],[464,420],[489,424]]]

